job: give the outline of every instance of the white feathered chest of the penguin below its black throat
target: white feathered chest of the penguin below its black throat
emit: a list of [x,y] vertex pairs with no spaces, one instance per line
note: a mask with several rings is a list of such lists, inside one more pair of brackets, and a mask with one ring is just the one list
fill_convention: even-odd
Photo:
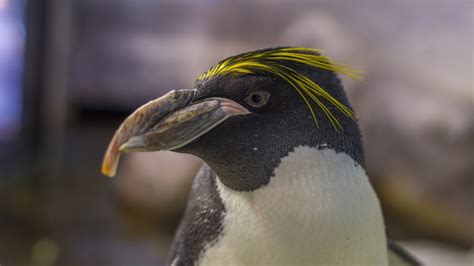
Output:
[[236,192],[217,181],[223,233],[200,265],[386,265],[378,199],[346,154],[296,148],[270,183]]

